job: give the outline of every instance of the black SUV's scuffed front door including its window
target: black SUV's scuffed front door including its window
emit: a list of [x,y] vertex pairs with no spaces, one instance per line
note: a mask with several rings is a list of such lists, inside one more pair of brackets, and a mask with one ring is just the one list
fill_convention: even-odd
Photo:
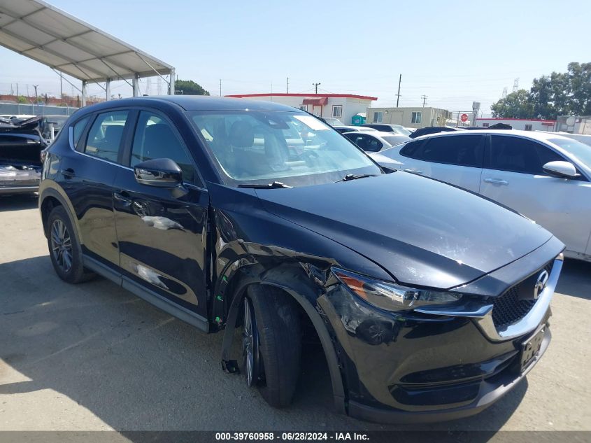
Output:
[[[185,192],[136,182],[134,165],[154,158],[183,169]],[[113,192],[124,286],[140,285],[206,317],[209,199],[187,145],[164,115],[141,111],[127,164]]]

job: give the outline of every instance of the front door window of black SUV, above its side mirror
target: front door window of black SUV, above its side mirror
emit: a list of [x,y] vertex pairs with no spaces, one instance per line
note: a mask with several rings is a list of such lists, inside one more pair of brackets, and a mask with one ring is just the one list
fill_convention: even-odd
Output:
[[193,162],[169,122],[155,113],[141,111],[131,148],[131,167],[155,158],[173,160],[183,169],[183,181],[196,182]]

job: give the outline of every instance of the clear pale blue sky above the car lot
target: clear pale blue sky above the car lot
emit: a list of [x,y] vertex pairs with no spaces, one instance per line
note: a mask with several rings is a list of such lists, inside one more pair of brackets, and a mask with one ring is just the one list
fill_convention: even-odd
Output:
[[[591,1],[257,1],[50,0],[176,67],[211,94],[366,94],[378,106],[422,105],[483,112],[513,80],[590,62]],[[50,68],[0,47],[0,93],[59,95]],[[74,80],[76,85],[80,83]],[[141,83],[141,92],[148,86]],[[97,86],[90,94],[101,94]],[[166,88],[162,85],[162,92]],[[64,82],[64,92],[72,88]],[[131,95],[127,83],[113,94]],[[157,93],[157,80],[150,94]]]

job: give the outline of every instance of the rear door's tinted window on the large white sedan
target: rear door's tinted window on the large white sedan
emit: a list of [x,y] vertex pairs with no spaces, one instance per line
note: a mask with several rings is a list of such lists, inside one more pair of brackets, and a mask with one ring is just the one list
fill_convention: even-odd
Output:
[[428,139],[415,158],[425,162],[482,167],[484,137],[479,135]]

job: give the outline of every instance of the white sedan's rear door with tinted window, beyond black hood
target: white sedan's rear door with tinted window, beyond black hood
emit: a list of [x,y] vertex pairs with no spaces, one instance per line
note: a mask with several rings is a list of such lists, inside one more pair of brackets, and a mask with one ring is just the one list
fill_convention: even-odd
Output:
[[485,140],[484,134],[433,136],[407,143],[397,160],[404,162],[404,171],[478,192]]

